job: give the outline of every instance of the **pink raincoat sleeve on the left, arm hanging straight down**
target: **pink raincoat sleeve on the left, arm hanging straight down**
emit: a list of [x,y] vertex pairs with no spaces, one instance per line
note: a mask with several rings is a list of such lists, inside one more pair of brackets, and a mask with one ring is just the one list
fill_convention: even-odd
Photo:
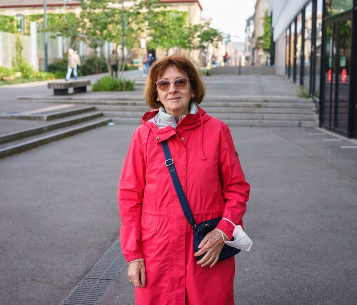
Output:
[[142,259],[140,218],[146,165],[139,131],[134,131],[121,171],[118,201],[121,218],[120,244],[127,262]]

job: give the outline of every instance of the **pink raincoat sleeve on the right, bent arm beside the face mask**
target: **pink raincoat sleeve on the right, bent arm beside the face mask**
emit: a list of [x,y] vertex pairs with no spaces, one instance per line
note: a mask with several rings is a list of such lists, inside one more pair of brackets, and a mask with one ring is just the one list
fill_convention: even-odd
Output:
[[[246,210],[250,186],[245,181],[231,132],[225,124],[221,131],[219,171],[225,202],[222,218],[228,218],[236,225],[242,226],[242,217]],[[230,240],[232,239],[234,226],[229,221],[222,219],[217,228],[225,232]]]

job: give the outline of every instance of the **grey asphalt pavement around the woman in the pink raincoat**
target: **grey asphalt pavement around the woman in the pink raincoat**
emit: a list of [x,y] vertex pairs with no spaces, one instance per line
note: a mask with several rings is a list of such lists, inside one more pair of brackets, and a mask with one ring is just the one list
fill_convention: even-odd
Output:
[[[212,83],[217,94],[236,90]],[[11,94],[0,107],[5,99],[10,109]],[[116,190],[135,128],[98,128],[0,160],[0,304],[60,305],[119,237]],[[231,131],[251,184],[253,240],[236,258],[236,305],[355,304],[357,143],[307,128]],[[134,304],[126,271],[101,305]]]

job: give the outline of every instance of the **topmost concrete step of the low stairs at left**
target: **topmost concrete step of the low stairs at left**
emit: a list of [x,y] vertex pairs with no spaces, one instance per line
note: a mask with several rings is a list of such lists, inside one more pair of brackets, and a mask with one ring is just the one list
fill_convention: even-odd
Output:
[[0,118],[2,119],[21,119],[21,120],[40,120],[40,121],[52,121],[60,118],[65,118],[69,116],[74,116],[77,114],[94,111],[93,106],[77,107],[68,110],[62,110],[50,113],[1,113]]

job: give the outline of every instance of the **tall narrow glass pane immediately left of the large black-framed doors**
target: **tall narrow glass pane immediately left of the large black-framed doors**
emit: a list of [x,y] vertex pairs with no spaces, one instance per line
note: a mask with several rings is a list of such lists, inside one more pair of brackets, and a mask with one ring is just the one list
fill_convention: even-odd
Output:
[[322,6],[323,0],[317,0],[316,12],[316,48],[315,48],[315,92],[320,98],[321,42],[322,42]]

